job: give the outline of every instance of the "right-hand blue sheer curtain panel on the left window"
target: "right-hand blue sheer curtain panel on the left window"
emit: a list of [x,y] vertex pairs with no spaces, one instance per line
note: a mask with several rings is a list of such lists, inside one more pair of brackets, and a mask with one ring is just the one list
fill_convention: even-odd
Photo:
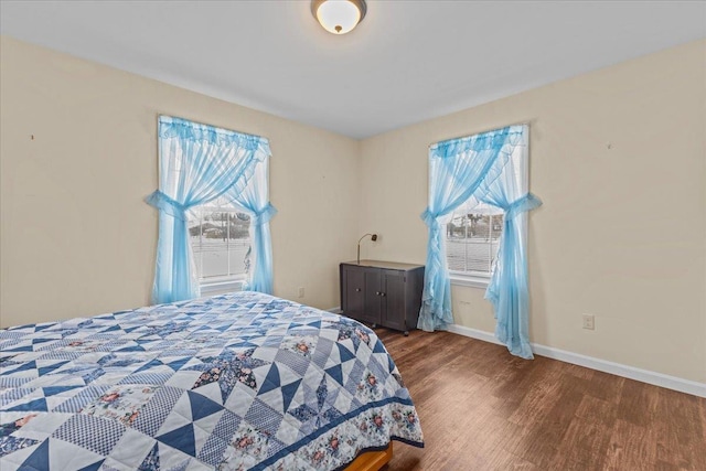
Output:
[[252,271],[243,289],[272,293],[272,244],[269,235],[269,220],[277,210],[269,202],[267,181],[268,160],[255,169],[255,174],[243,191],[231,191],[227,196],[250,216]]

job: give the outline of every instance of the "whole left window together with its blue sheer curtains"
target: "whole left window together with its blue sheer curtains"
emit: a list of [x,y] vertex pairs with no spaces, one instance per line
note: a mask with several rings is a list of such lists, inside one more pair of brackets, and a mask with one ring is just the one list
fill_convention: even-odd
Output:
[[145,199],[160,213],[152,302],[238,288],[271,293],[269,221],[277,210],[267,138],[171,116],[159,117],[158,137],[159,189]]

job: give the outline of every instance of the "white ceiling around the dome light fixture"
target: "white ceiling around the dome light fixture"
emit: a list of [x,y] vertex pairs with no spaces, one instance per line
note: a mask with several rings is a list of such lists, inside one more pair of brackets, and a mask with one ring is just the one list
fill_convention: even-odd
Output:
[[0,31],[353,138],[706,38],[706,1],[367,3],[341,36],[308,0],[0,0]]

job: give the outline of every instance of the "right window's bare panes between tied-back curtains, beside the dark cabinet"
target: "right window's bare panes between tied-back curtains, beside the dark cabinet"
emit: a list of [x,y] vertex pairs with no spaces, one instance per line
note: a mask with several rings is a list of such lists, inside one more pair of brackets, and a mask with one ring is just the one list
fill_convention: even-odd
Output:
[[[527,147],[516,146],[507,174],[517,189],[526,188]],[[451,214],[446,225],[446,258],[454,285],[486,287],[495,268],[503,211],[471,197]]]

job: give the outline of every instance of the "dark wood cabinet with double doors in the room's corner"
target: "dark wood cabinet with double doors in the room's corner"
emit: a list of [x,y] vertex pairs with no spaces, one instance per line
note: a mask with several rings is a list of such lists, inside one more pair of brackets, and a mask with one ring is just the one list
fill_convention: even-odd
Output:
[[417,328],[424,265],[361,260],[341,264],[341,310],[360,322],[403,331]]

